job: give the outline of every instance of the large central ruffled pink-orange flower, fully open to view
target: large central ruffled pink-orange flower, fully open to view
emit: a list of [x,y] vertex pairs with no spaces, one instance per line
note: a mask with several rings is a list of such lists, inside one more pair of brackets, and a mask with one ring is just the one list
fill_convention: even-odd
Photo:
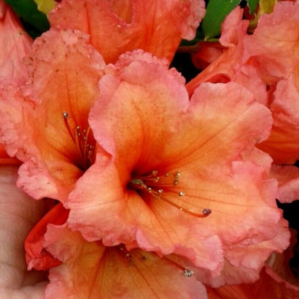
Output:
[[184,256],[212,278],[225,258],[256,279],[289,238],[276,182],[254,163],[269,164],[254,148],[268,109],[235,83],[202,84],[189,100],[182,77],[142,51],[106,67],[99,89],[89,123],[100,148],[65,203],[68,225],[106,246]]

